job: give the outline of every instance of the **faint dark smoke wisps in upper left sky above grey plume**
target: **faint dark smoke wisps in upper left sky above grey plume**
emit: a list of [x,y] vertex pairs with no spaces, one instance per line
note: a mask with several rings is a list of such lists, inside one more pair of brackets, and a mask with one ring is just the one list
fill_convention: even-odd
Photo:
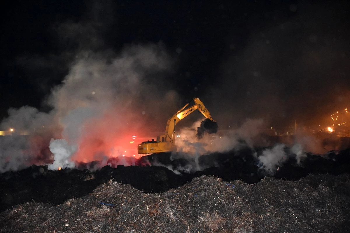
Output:
[[[110,30],[109,26],[114,22],[113,3],[87,1],[85,4],[86,13],[79,16],[79,19],[56,16],[56,21],[45,31],[45,36],[50,40],[35,41],[41,43],[41,46],[36,48],[36,54],[24,51],[16,56],[14,61],[6,61],[7,66],[13,69],[16,75],[20,75],[20,79],[25,79],[37,95],[50,95],[51,88],[62,82],[72,63],[82,56],[83,51],[104,51],[105,57],[114,56],[111,46],[105,40]],[[47,108],[44,103],[40,107]]]

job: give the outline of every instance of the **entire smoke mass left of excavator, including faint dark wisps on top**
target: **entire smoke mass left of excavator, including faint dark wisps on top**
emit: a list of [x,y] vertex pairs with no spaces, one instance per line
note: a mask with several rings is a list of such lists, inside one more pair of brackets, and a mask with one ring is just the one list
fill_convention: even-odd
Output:
[[113,157],[127,165],[122,156],[137,153],[137,144],[129,143],[131,135],[160,131],[158,122],[166,122],[179,108],[179,96],[163,81],[173,59],[161,42],[115,51],[104,41],[114,21],[112,5],[91,3],[80,21],[52,25],[57,46],[65,48],[61,54],[18,57],[18,65],[28,72],[51,70],[51,76],[45,73],[47,80],[58,70],[68,72],[45,100],[51,111],[9,109],[0,129],[14,128],[14,134],[26,136],[1,138],[0,172],[43,163],[51,169],[73,167],[75,162]]

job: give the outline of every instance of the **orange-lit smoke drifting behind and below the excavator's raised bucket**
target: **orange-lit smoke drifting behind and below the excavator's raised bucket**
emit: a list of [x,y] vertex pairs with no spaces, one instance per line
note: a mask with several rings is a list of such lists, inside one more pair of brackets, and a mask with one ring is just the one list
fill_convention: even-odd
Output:
[[[259,134],[264,130],[265,123],[261,119],[247,119],[243,125],[237,129],[220,130],[216,134],[205,133],[203,138],[196,137],[197,127],[201,125],[203,119],[199,119],[190,127],[183,127],[176,130],[175,145],[177,153],[173,153],[170,159],[185,159],[184,166],[166,166],[158,162],[153,162],[156,166],[166,166],[176,174],[182,172],[194,173],[208,167],[199,164],[202,155],[213,152],[237,151],[242,147],[253,147],[258,140]],[[220,125],[220,124],[219,124]],[[220,127],[220,126],[219,126]]]

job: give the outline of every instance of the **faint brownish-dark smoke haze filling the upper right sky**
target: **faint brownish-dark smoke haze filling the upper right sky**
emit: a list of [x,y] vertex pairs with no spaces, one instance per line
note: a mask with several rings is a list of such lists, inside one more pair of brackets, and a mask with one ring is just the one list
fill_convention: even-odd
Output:
[[345,9],[346,1],[320,1],[294,6],[289,19],[275,12],[251,16],[247,44],[230,44],[222,85],[213,91],[212,99],[222,101],[212,110],[220,112],[217,121],[229,126],[250,117],[271,126],[295,120],[319,125],[327,123],[328,113],[349,106]]

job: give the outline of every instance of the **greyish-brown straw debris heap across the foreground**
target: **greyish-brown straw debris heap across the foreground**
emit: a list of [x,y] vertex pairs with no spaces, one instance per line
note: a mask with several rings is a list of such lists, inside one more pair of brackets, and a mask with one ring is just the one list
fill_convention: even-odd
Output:
[[113,180],[57,206],[0,213],[2,232],[349,232],[350,176],[308,175],[258,184],[201,176],[147,194]]

